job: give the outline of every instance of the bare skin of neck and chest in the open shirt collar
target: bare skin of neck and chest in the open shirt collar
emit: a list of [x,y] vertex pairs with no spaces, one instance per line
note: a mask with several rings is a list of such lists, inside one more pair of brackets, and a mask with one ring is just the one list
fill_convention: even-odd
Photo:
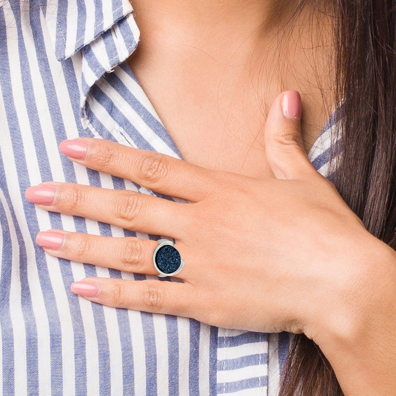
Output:
[[129,66],[187,162],[271,176],[265,121],[287,89],[301,94],[308,152],[334,110],[331,19],[323,6],[287,25],[294,0],[132,5],[141,40]]

